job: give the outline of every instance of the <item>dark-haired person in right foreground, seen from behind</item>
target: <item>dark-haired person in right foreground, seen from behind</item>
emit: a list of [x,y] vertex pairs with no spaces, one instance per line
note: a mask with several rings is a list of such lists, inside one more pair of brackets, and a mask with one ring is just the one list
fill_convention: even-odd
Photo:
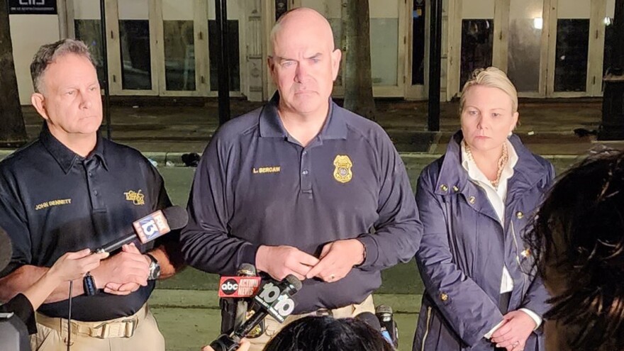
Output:
[[549,350],[624,350],[624,153],[569,169],[527,235],[550,291]]

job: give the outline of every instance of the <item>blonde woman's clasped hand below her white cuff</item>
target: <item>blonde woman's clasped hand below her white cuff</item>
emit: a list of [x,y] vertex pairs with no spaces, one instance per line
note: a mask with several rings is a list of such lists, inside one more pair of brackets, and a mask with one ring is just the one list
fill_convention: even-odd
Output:
[[533,318],[523,311],[511,311],[503,316],[503,321],[505,324],[492,334],[492,342],[508,351],[524,350],[526,340],[537,327]]

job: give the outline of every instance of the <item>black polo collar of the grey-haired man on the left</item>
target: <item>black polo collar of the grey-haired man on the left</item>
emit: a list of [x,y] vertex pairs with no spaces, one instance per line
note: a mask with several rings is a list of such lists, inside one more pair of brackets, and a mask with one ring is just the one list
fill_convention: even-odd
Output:
[[43,128],[41,129],[41,133],[39,134],[39,140],[48,150],[48,152],[50,152],[50,155],[54,157],[54,159],[59,164],[63,172],[65,172],[65,174],[69,173],[69,170],[74,167],[74,164],[76,162],[80,162],[84,160],[84,158],[88,159],[90,157],[98,157],[101,160],[102,165],[104,165],[104,169],[108,170],[108,165],[106,165],[106,157],[104,157],[104,140],[102,139],[99,131],[97,132],[95,149],[91,151],[91,153],[87,157],[84,158],[78,155],[76,152],[70,150],[69,147],[65,146],[57,138],[55,138],[55,136],[50,133],[48,123],[43,123]]

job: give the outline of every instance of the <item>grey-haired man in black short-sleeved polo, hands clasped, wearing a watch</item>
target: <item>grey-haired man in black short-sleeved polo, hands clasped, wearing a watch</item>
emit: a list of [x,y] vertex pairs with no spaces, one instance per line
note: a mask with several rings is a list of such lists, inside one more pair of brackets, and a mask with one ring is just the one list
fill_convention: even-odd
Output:
[[[170,206],[162,177],[137,150],[101,138],[100,87],[84,43],[43,45],[30,66],[32,102],[45,119],[38,140],[0,162],[0,227],[13,241],[0,299],[26,290],[65,252],[95,249],[132,233],[131,223]],[[171,234],[169,234],[171,235]],[[154,279],[174,274],[175,236],[135,247],[91,271],[99,294],[74,281],[72,350],[165,350],[146,301]],[[148,252],[143,254],[142,252]],[[38,309],[33,350],[67,342],[69,284]],[[48,348],[49,347],[49,348]]]

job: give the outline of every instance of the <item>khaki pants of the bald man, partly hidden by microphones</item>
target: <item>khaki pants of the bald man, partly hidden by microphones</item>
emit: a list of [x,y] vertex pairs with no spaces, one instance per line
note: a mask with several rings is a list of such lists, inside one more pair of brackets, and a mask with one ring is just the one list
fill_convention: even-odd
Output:
[[[334,318],[350,318],[355,317],[362,312],[370,312],[375,313],[375,305],[373,303],[373,296],[369,295],[362,303],[355,303],[349,306],[335,308],[330,310],[331,316]],[[249,339],[251,342],[250,351],[262,351],[264,345],[267,345],[267,342],[271,340],[273,335],[279,333],[279,330],[282,330],[286,325],[292,323],[300,318],[306,316],[315,316],[316,312],[306,313],[306,314],[297,314],[286,317],[286,321],[284,323],[279,323],[272,316],[267,316],[264,318],[265,331],[260,337]]]

